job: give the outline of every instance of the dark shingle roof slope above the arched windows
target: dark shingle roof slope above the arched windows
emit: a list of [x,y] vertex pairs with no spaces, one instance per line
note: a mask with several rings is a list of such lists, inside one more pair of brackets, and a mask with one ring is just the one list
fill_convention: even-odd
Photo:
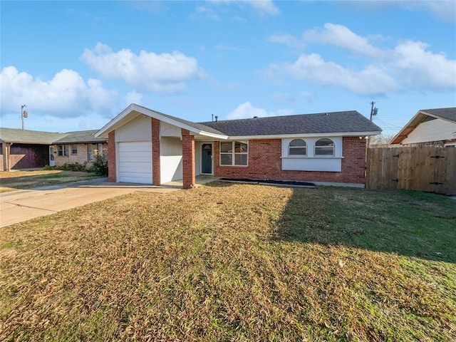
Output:
[[202,123],[229,136],[380,132],[356,110]]

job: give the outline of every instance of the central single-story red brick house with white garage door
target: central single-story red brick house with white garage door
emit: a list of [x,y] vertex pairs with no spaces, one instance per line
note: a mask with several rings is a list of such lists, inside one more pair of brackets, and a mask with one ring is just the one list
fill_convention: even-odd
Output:
[[363,186],[366,136],[356,111],[192,123],[131,104],[101,128],[110,182],[160,185],[196,175]]

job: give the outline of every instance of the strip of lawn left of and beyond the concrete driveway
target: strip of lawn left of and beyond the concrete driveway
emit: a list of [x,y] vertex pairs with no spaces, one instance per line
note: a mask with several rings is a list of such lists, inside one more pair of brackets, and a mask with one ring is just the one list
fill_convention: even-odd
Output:
[[0,192],[91,180],[96,177],[99,176],[90,172],[62,170],[0,171]]

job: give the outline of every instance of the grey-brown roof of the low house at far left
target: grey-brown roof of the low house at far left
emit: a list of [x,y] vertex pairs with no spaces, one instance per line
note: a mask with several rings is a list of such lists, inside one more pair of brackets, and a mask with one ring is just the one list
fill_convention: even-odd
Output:
[[104,138],[95,138],[97,130],[81,130],[67,133],[41,132],[39,130],[20,130],[16,128],[0,128],[0,140],[18,144],[68,144],[83,142],[105,142]]

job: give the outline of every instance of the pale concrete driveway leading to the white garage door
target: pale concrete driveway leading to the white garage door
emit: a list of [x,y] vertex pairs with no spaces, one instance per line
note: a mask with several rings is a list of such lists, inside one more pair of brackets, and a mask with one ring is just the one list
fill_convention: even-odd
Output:
[[129,183],[110,183],[106,178],[83,182],[37,187],[0,194],[0,227],[28,219],[81,207],[103,199],[131,192],[157,192],[165,194],[179,187],[154,187]]

